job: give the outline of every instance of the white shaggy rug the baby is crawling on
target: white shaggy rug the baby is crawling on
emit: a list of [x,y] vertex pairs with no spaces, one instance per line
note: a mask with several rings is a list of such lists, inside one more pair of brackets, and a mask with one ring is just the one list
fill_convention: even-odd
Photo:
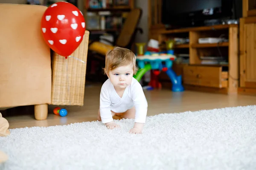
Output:
[[255,170],[256,105],[149,116],[142,135],[132,119],[10,130],[0,170]]

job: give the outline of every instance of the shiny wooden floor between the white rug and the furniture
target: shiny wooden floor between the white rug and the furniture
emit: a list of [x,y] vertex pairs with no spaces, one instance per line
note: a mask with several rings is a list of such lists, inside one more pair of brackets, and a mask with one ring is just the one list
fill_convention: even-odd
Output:
[[[85,88],[84,106],[67,106],[66,117],[52,113],[55,106],[49,106],[47,120],[37,121],[33,114],[22,116],[7,116],[10,129],[32,126],[67,125],[76,122],[95,121],[99,109],[100,84],[91,84]],[[204,109],[255,105],[256,96],[225,95],[201,93],[195,91],[172,92],[169,89],[145,91],[148,100],[148,116],[159,113],[180,113]],[[61,106],[64,108],[64,106]]]

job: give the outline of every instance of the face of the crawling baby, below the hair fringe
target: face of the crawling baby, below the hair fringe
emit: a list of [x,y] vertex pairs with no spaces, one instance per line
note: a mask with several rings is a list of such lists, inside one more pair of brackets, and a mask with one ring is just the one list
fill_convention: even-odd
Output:
[[124,65],[109,71],[108,78],[115,88],[126,88],[133,77],[132,65]]

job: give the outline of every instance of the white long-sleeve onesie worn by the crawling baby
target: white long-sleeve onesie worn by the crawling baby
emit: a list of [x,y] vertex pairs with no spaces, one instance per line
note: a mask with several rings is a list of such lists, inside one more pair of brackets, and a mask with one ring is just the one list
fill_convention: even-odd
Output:
[[108,123],[113,121],[111,111],[115,113],[123,113],[128,109],[135,106],[135,122],[145,123],[148,102],[140,83],[132,78],[131,85],[125,88],[122,98],[116,93],[116,90],[111,83],[110,79],[107,79],[102,85],[99,100],[99,111],[102,119],[102,123]]

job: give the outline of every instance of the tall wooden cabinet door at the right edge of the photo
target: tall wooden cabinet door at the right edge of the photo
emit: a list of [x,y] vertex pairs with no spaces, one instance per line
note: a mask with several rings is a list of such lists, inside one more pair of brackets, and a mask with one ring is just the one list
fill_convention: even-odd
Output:
[[240,19],[239,92],[256,94],[256,17]]

